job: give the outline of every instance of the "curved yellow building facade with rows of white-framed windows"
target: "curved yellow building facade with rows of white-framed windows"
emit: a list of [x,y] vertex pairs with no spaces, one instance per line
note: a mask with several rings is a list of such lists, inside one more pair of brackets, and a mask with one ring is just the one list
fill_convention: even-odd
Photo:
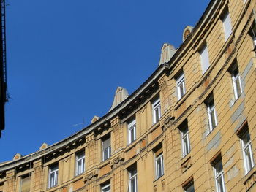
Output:
[[0,164],[0,191],[256,191],[255,0],[212,0],[132,95]]

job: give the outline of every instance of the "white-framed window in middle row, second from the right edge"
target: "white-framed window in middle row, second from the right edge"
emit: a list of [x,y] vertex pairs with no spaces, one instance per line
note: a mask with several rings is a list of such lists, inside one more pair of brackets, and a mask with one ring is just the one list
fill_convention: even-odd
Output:
[[241,77],[238,71],[237,64],[235,64],[233,66],[233,69],[231,69],[231,75],[232,75],[234,96],[235,96],[235,99],[237,100],[238,97],[241,96],[241,93],[243,92],[242,85],[241,85]]

